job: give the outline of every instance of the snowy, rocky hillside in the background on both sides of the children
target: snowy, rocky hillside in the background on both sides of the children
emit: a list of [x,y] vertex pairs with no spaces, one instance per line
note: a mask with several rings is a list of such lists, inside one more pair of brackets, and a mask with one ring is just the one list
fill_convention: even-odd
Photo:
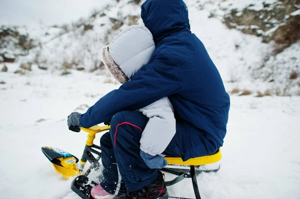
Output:
[[[4,59],[16,57],[14,61],[18,64],[30,62],[40,68],[47,67],[51,72],[62,70],[62,74],[74,69],[103,68],[102,46],[124,27],[138,23],[139,5],[143,1],[101,2],[102,8],[72,24],[9,27],[10,35],[0,39],[0,55]],[[186,3],[191,30],[208,49],[228,92],[300,94],[300,43],[296,41],[300,36],[295,34],[300,32],[296,29],[300,27],[297,0],[186,0]],[[2,27],[2,32],[5,28]],[[3,58],[0,56],[0,62]]]

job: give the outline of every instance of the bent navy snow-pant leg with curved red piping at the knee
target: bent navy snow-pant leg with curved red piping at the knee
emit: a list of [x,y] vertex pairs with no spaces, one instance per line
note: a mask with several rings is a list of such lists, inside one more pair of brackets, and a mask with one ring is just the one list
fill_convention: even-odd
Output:
[[129,191],[140,190],[157,177],[157,170],[149,169],[139,155],[139,140],[147,122],[148,118],[136,111],[119,112],[111,120],[110,136],[116,162]]

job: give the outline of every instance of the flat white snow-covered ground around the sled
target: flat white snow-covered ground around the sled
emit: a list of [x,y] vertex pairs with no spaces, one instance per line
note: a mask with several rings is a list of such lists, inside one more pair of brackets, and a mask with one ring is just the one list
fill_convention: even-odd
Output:
[[[40,147],[80,157],[86,133],[67,129],[68,114],[84,112],[119,84],[104,83],[106,73],[60,76],[34,66],[19,76],[12,73],[18,65],[8,66],[0,73],[6,82],[0,84],[0,199],[79,199],[70,190],[72,179],[57,175]],[[202,198],[299,198],[299,102],[300,97],[231,96],[221,169],[198,176]],[[194,197],[189,179],[168,190],[170,196]]]

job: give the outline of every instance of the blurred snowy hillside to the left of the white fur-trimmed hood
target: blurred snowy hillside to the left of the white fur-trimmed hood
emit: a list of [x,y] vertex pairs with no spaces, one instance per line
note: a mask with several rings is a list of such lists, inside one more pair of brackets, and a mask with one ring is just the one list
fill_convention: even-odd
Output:
[[[138,15],[139,5],[128,4],[126,0],[119,3],[106,0],[90,17],[72,24],[12,28],[12,31],[28,34],[28,38],[33,39],[28,55],[17,61],[46,64],[51,69],[95,69],[101,65],[102,46],[108,44],[132,12]],[[1,51],[15,54],[11,44]]]

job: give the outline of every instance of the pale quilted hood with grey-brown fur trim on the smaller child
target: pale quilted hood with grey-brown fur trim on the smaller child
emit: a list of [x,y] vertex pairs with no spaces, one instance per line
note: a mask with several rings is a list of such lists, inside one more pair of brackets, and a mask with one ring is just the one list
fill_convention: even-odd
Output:
[[125,83],[149,62],[154,49],[151,32],[143,25],[131,25],[102,48],[102,60],[113,77]]

